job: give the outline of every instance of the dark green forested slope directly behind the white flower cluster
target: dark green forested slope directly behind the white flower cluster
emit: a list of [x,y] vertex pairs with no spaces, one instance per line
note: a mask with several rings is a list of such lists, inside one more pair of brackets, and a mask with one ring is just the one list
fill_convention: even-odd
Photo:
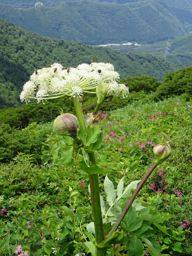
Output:
[[63,39],[39,36],[0,19],[0,108],[19,106],[23,84],[35,68],[48,67],[54,62],[77,66],[81,62],[110,62],[121,78],[152,76],[161,80],[176,66],[152,54],[121,54],[104,47],[92,47]]

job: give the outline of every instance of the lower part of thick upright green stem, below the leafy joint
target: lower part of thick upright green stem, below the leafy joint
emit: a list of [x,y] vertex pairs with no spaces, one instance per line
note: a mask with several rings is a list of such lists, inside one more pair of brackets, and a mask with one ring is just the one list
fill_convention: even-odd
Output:
[[[88,153],[89,159],[93,164],[96,164],[94,153]],[[91,204],[93,211],[93,220],[95,226],[95,238],[97,244],[100,244],[105,239],[101,203],[100,203],[100,190],[99,190],[99,180],[98,174],[90,174],[90,190],[91,190]],[[97,256],[106,256],[107,248],[97,248]]]

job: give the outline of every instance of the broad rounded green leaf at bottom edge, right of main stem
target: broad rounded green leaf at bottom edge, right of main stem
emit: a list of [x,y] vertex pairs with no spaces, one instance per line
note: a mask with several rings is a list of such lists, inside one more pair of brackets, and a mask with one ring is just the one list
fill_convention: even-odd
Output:
[[133,236],[128,241],[125,250],[129,250],[129,256],[142,256],[143,244],[140,239]]

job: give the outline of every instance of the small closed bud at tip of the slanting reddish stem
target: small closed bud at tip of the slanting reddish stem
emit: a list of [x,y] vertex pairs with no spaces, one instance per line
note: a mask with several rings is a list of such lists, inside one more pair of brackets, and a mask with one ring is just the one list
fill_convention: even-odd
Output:
[[155,155],[155,163],[162,164],[170,155],[171,155],[171,148],[169,145],[158,144],[154,146],[153,152]]

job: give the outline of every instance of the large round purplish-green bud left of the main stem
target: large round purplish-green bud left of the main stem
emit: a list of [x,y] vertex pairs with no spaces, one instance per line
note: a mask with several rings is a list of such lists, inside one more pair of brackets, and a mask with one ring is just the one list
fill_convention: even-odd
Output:
[[61,114],[54,121],[54,129],[58,135],[77,136],[77,128],[79,126],[78,119],[73,114]]

